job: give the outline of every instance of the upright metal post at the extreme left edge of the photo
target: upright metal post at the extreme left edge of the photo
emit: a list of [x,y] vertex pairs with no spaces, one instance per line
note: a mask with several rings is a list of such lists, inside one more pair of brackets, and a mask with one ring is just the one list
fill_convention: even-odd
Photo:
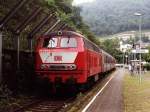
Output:
[[2,81],[2,32],[0,31],[0,83]]

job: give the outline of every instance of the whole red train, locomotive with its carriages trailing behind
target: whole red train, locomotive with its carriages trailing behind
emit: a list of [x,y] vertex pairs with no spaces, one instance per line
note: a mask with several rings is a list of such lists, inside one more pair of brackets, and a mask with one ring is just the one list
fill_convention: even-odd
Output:
[[83,35],[62,31],[38,38],[36,73],[50,82],[84,84],[115,68],[115,59]]

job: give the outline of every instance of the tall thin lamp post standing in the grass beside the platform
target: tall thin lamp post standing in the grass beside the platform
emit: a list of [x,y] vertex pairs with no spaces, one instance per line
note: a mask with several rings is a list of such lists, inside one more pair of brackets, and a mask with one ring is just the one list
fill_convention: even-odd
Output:
[[139,17],[139,40],[140,40],[140,56],[139,56],[139,64],[140,64],[140,74],[139,74],[139,83],[141,84],[142,77],[141,77],[141,38],[142,38],[142,31],[141,31],[141,24],[142,24],[142,14],[141,13],[134,13],[135,16]]

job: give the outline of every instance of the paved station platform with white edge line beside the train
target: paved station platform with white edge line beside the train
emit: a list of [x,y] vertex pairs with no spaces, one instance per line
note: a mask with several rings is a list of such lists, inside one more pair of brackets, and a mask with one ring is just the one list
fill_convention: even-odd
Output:
[[123,112],[124,75],[124,69],[117,69],[82,112]]

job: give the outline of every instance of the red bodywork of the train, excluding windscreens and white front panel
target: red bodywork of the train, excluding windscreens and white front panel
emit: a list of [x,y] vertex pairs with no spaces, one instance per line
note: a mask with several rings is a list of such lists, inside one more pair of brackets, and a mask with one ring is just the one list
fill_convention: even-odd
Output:
[[[57,48],[45,48],[43,47],[43,41],[45,38],[58,37],[58,45]],[[76,38],[77,47],[76,48],[59,48],[60,39],[63,37],[69,36]],[[91,47],[92,46],[92,47]],[[41,77],[48,77],[51,82],[55,82],[56,77],[60,77],[63,83],[73,77],[77,83],[85,83],[89,77],[95,76],[96,74],[101,74],[103,72],[107,72],[113,68],[115,68],[116,60],[104,52],[102,49],[95,46],[95,49],[91,49],[95,46],[92,42],[85,39],[82,35],[75,32],[62,32],[62,37],[57,35],[57,33],[52,33],[50,36],[43,36],[39,38],[37,47],[36,47],[36,73]],[[91,48],[90,48],[91,47]],[[99,50],[96,50],[99,49]],[[67,70],[41,70],[42,60],[39,55],[39,51],[44,52],[77,52],[77,57],[75,62],[72,64],[76,65],[76,70],[67,71]],[[54,61],[62,61],[62,56],[54,56]],[[47,63],[47,64],[58,64],[58,63]],[[59,65],[67,64],[67,63],[59,63]]]

